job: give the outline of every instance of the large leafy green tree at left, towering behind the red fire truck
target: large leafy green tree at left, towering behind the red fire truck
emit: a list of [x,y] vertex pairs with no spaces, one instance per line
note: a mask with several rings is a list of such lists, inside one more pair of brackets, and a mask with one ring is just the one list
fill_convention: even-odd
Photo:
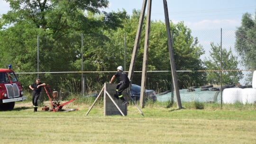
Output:
[[[37,36],[40,72],[79,71],[81,33],[87,36],[84,40],[94,38],[85,44],[94,42],[84,52],[84,56],[91,56],[91,49],[104,44],[102,37],[109,40],[103,31],[122,27],[122,19],[126,17],[125,11],[100,12],[99,9],[108,7],[108,0],[6,1],[11,10],[0,18],[0,51],[3,52],[0,61],[2,66],[11,63],[16,72],[37,72]],[[85,64],[95,68],[91,66],[92,61]],[[47,77],[46,82],[55,78],[53,74],[42,76]],[[22,79],[25,83],[33,80],[29,76]]]

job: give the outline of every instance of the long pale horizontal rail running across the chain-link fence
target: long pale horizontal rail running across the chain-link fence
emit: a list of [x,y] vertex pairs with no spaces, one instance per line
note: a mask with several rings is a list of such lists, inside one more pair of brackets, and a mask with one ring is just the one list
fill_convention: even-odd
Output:
[[[176,72],[230,72],[230,71],[256,71],[253,69],[249,70],[188,70],[188,71],[176,71]],[[88,72],[16,72],[17,74],[37,74],[37,73],[99,73],[99,72],[116,72],[116,71],[88,71]],[[128,71],[124,71],[128,72]],[[142,72],[142,71],[134,71],[134,72]],[[172,71],[147,71],[147,72],[172,72]]]

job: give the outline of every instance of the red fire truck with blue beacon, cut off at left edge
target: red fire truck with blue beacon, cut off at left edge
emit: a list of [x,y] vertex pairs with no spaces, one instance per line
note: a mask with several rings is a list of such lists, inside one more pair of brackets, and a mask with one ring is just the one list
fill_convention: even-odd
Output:
[[10,69],[0,69],[0,110],[12,110],[15,101],[22,101],[23,91],[18,79]]

